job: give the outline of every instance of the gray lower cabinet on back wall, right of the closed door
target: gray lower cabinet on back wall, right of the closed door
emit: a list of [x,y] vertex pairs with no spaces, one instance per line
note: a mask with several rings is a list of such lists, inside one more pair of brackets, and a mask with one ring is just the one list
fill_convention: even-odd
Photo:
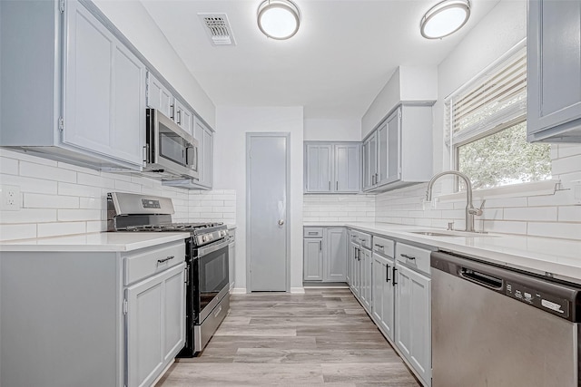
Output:
[[303,280],[345,282],[348,242],[345,227],[304,227]]

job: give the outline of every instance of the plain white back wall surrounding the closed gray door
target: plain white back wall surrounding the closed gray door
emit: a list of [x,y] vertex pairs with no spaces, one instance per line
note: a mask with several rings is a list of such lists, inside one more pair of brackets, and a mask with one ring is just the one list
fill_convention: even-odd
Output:
[[[291,133],[291,291],[302,288],[302,107],[218,106],[214,136],[214,188],[236,195],[236,288],[246,288],[246,133]],[[219,155],[219,156],[218,156]]]

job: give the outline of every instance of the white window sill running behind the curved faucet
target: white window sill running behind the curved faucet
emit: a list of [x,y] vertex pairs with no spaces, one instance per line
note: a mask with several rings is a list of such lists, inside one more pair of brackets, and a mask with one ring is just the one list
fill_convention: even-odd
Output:
[[[560,180],[533,181],[530,183],[514,184],[511,186],[495,187],[493,189],[475,189],[472,197],[475,199],[484,198],[518,198],[523,196],[544,196],[554,195],[558,190]],[[443,194],[435,197],[441,203],[457,201],[466,198],[466,191]]]

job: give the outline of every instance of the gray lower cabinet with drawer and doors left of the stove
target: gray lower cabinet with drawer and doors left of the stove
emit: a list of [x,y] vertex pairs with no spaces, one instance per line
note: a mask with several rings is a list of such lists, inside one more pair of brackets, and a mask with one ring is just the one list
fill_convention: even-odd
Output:
[[183,241],[3,252],[0,385],[151,385],[185,343],[184,259]]

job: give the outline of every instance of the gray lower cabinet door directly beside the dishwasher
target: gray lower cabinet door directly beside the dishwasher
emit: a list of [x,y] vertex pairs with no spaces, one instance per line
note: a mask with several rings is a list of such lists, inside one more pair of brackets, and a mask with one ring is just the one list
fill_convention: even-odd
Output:
[[426,382],[431,378],[429,278],[397,265],[396,344]]

